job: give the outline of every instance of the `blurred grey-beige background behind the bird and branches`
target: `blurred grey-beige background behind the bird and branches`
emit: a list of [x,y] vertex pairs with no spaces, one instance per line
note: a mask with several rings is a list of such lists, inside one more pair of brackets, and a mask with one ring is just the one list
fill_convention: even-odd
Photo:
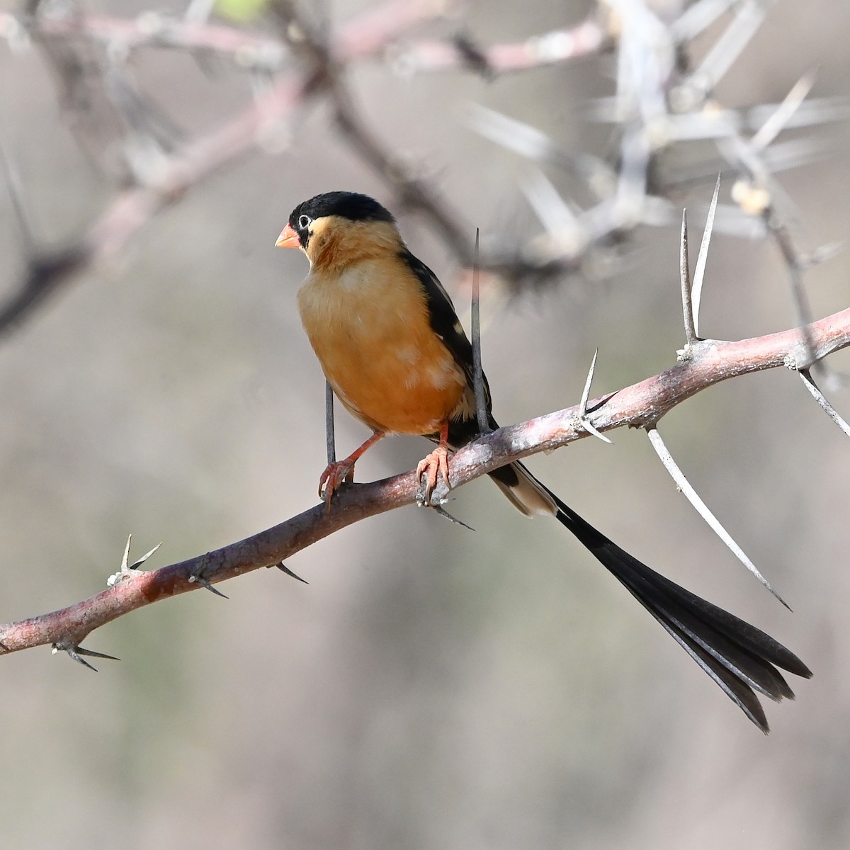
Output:
[[[331,20],[367,7],[340,0]],[[485,44],[516,41],[588,8],[488,0],[452,26]],[[718,96],[776,102],[815,67],[814,94],[846,95],[848,27],[842,3],[775,3]],[[250,98],[246,76],[218,60],[143,51],[136,62],[189,133]],[[597,150],[605,134],[585,106],[610,94],[612,71],[591,59],[486,82],[377,62],[351,83],[362,114],[428,173],[470,240],[478,226],[486,244],[510,246],[539,229],[519,191],[528,162],[471,132],[463,109],[487,105]],[[845,238],[850,219],[847,125],[819,132],[829,155],[780,178],[809,248]],[[81,232],[115,188],[67,127],[37,50],[0,46],[0,136],[42,246]],[[129,532],[137,554],[164,541],[150,562],[161,566],[314,504],[324,384],[295,309],[306,266],[273,245],[297,201],[337,188],[394,203],[316,105],[285,150],[257,150],[197,185],[118,262],[79,276],[3,338],[0,619],[98,592]],[[700,224],[710,195],[701,186],[682,199]],[[8,293],[27,258],[4,190],[0,215]],[[399,221],[459,292],[461,269],[427,221]],[[597,347],[597,393],[672,365],[683,343],[677,251],[676,227],[640,229],[615,275],[494,299],[483,343],[500,421],[574,404]],[[847,262],[808,273],[816,316],[847,307]],[[786,277],[768,241],[717,235],[703,331],[793,326]],[[847,411],[847,394],[835,399]],[[3,658],[0,842],[847,847],[847,439],[786,371],[712,388],[660,429],[793,615],[677,494],[642,433],[530,466],[656,570],[811,666],[813,680],[792,683],[796,702],[768,705],[769,737],[557,524],[523,519],[476,482],[451,505],[474,533],[414,508],[368,520],[292,558],[309,586],[261,570],[223,586],[227,602],[196,592],[105,626],[87,645],[122,661],[98,673],[48,649]],[[340,450],[363,435],[337,416]],[[425,445],[388,441],[360,477],[411,468]]]

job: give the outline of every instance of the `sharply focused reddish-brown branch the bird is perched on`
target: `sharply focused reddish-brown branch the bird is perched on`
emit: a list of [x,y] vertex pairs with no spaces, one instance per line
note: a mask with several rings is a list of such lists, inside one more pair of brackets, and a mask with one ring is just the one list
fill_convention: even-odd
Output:
[[[845,348],[850,345],[850,309],[814,322],[807,330],[818,358]],[[672,369],[593,399],[587,405],[591,411],[588,415],[598,431],[626,425],[648,428],[667,411],[717,382],[779,366],[797,370],[807,363],[808,352],[796,329],[740,342],[704,340],[695,343],[689,349],[689,357]],[[583,422],[581,406],[501,428],[457,451],[451,463],[452,486],[467,484],[507,462],[587,437],[590,432]],[[99,626],[144,605],[201,587],[201,582],[192,581],[193,577],[214,584],[261,567],[276,566],[361,519],[416,503],[418,493],[414,473],[374,484],[350,484],[334,496],[330,512],[322,503],[245,540],[159,570],[139,573],[122,567],[122,572],[113,577],[113,586],[94,597],[50,614],[0,626],[0,654],[47,643],[71,654],[79,652],[82,641]],[[439,484],[435,495],[445,498],[444,484]]]

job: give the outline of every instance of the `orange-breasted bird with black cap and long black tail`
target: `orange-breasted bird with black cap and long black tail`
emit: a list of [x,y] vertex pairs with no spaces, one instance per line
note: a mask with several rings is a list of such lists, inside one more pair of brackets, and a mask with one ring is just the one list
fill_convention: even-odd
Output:
[[[437,275],[405,244],[396,220],[369,195],[332,191],[292,210],[275,245],[300,249],[309,273],[297,306],[309,342],[343,407],[371,436],[320,475],[319,495],[354,479],[365,450],[388,434],[419,434],[437,445],[416,468],[426,503],[449,484],[450,451],[479,436],[473,349]],[[484,377],[491,429],[490,386]],[[768,734],[758,699],[793,699],[778,668],[809,678],[791,650],[728,611],[650,570],[583,519],[524,464],[489,473],[526,516],[552,516],[643,605],[728,697]]]

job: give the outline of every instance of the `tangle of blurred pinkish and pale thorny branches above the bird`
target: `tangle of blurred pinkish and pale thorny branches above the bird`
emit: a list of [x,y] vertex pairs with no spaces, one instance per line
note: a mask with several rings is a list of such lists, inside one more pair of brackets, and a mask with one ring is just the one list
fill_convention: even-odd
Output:
[[[846,99],[807,103],[813,85],[813,78],[807,77],[776,109],[764,105],[762,112],[751,110],[751,124],[761,123],[753,127],[751,140],[741,134],[745,127],[740,116],[723,110],[715,92],[762,22],[761,3],[741,3],[695,66],[689,59],[691,42],[717,12],[712,9],[711,15],[706,11],[700,16],[702,7],[717,5],[709,0],[699,0],[669,21],[639,0],[623,0],[598,9],[573,30],[541,33],[519,44],[492,48],[479,47],[467,34],[456,34],[443,42],[442,59],[439,42],[403,42],[417,28],[445,18],[451,11],[445,0],[391,0],[361,14],[332,37],[325,24],[310,20],[296,3],[280,0],[269,3],[265,12],[280,30],[277,39],[154,12],[122,20],[88,15],[73,6],[57,10],[43,8],[46,5],[32,3],[26,14],[17,17],[4,13],[0,31],[18,49],[26,42],[40,49],[54,73],[65,120],[118,192],[88,233],[59,252],[31,252],[17,291],[0,304],[0,334],[26,318],[86,264],[103,263],[120,252],[152,215],[218,168],[254,146],[285,147],[288,125],[298,120],[305,99],[312,97],[331,101],[343,139],[393,190],[397,203],[422,212],[456,259],[468,265],[468,223],[450,210],[428,179],[416,178],[414,169],[382,144],[360,115],[345,78],[365,59],[382,59],[405,74],[439,67],[492,79],[506,71],[587,58],[606,48],[617,57],[615,93],[598,100],[591,114],[612,127],[605,147],[613,160],[564,150],[557,139],[535,127],[480,106],[470,108],[470,127],[538,166],[556,167],[591,199],[590,206],[582,208],[578,198],[562,195],[541,171],[530,171],[525,194],[544,232],[517,252],[484,258],[484,269],[494,270],[503,283],[515,287],[586,268],[590,258],[610,267],[628,235],[644,225],[671,224],[678,215],[675,199],[683,188],[699,184],[700,175],[710,178],[716,168],[725,168],[736,178],[732,200],[745,215],[736,217],[735,207],[727,207],[721,211],[721,224],[725,219],[727,232],[737,235],[774,235],[788,264],[800,324],[813,318],[802,289],[802,259],[790,247],[788,214],[782,212],[788,201],[774,174],[822,156],[820,139],[810,133],[794,140],[791,156],[779,161],[774,155],[784,150],[779,139],[787,127],[811,131],[842,120],[847,105]],[[456,29],[457,24],[452,26]],[[180,49],[201,64],[210,54],[226,58],[252,79],[252,105],[223,126],[187,138],[133,71],[134,55],[144,49]],[[807,109],[802,110],[803,105]],[[694,161],[687,168],[666,169],[668,158],[693,158],[690,151],[706,143],[721,157],[714,167]],[[12,187],[8,167],[7,174]],[[14,193],[16,206],[26,208],[20,189]]]

